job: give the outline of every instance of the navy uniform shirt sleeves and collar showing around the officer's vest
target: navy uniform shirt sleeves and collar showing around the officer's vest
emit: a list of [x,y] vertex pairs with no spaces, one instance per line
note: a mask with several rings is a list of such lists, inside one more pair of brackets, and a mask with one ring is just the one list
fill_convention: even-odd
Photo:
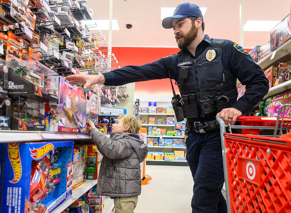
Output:
[[[197,58],[211,43],[210,37],[205,35],[196,48],[196,57],[190,52],[188,53],[192,58]],[[238,78],[243,85],[246,85],[246,92],[233,105],[233,108],[241,111],[242,114],[250,112],[253,106],[259,103],[268,93],[269,80],[266,78],[262,68],[253,61],[252,57],[244,49],[236,48],[233,41],[228,40],[224,45],[221,60],[224,69],[232,71],[234,78]],[[169,78],[168,71],[171,73],[171,78],[177,81],[177,54],[160,58],[145,65],[125,66],[104,73],[104,84],[118,86],[138,81]]]

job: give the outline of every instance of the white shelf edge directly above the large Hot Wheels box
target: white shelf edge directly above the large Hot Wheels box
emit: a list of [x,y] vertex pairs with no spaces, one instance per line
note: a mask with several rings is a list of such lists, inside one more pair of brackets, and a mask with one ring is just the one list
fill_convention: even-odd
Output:
[[0,143],[20,143],[42,140],[88,140],[90,134],[45,131],[0,130]]

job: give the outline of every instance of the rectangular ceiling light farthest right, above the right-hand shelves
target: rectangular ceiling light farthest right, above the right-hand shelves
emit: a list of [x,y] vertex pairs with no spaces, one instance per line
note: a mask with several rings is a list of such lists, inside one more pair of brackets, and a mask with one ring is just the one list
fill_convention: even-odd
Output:
[[247,21],[244,31],[271,31],[281,21]]

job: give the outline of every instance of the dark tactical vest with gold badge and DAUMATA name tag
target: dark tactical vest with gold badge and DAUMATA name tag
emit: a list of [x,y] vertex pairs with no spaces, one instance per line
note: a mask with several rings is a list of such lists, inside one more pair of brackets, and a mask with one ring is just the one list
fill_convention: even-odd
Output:
[[[189,78],[182,80],[178,76],[180,94],[196,94],[196,104],[199,108],[200,101],[210,99],[213,112],[207,115],[198,113],[198,118],[187,118],[188,121],[208,121],[215,119],[218,113],[215,99],[225,95],[229,98],[231,106],[237,101],[236,77],[232,72],[222,66],[221,56],[227,40],[214,39],[212,44],[205,49],[196,59],[191,58],[187,51],[180,51],[178,56],[178,69],[189,66]],[[208,55],[208,56],[207,56]],[[215,55],[215,56],[214,56]],[[208,60],[207,60],[208,58]]]

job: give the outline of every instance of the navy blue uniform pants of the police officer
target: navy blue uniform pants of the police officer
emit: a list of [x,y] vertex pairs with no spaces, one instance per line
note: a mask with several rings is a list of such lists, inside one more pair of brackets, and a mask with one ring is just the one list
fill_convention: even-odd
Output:
[[227,213],[223,187],[223,162],[219,130],[188,131],[186,159],[193,180],[192,213]]

